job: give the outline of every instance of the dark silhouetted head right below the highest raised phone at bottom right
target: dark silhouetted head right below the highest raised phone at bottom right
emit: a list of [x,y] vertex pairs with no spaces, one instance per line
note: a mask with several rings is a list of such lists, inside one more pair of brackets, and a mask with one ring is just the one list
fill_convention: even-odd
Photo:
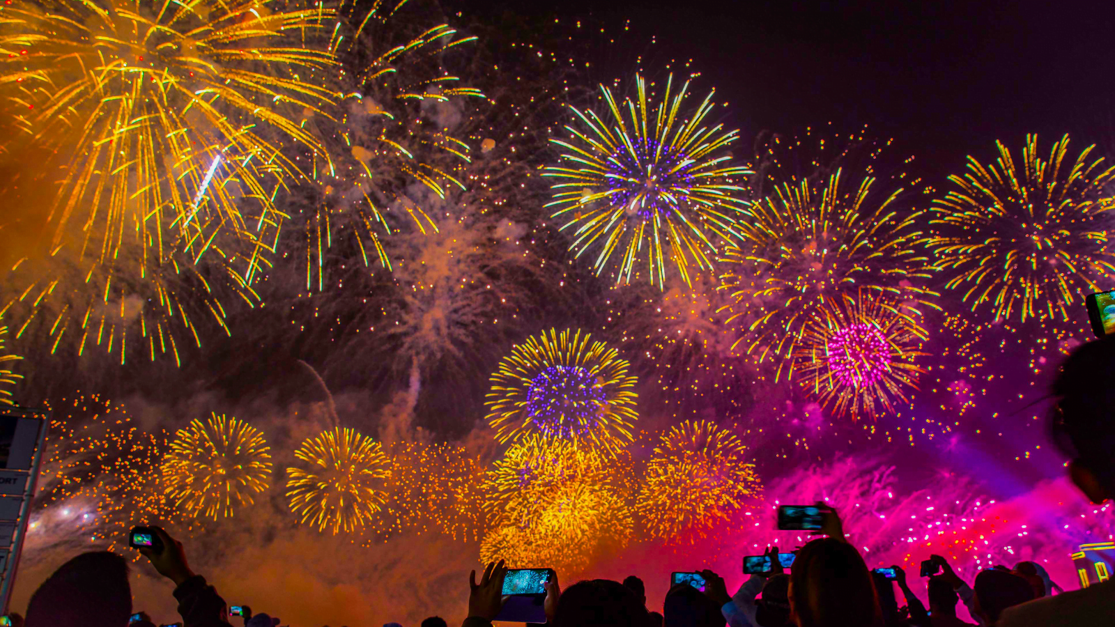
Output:
[[799,627],[878,627],[883,621],[867,565],[854,547],[835,538],[797,551],[789,606]]

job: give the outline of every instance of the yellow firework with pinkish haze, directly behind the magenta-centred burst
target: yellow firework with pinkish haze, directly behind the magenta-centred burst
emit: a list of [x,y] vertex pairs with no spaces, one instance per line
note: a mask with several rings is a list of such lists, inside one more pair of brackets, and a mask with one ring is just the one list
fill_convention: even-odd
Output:
[[[723,259],[723,289],[736,300],[728,319],[739,329],[736,347],[775,361],[776,380],[788,374],[809,311],[826,298],[866,288],[920,307],[937,296],[923,286],[930,262],[915,245],[922,212],[903,202],[919,181],[904,172],[885,179],[882,146],[862,136],[817,146],[808,137],[768,143],[760,183],[770,192],[749,205],[741,240]],[[801,175],[798,162],[809,158],[797,156],[803,151],[817,154]]]

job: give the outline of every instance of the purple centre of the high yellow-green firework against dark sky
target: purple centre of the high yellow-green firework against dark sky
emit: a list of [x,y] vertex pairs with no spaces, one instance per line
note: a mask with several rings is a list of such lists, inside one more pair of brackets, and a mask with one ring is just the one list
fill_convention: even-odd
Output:
[[689,195],[695,163],[688,155],[669,145],[659,147],[655,139],[634,139],[631,146],[634,155],[620,145],[608,158],[612,206],[626,206],[628,216],[649,219]]

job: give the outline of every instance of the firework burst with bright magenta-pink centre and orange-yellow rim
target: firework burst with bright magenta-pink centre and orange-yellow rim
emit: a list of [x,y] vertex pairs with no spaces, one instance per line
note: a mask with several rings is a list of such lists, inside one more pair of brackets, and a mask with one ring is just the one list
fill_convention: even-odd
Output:
[[927,339],[915,310],[861,290],[828,299],[806,322],[792,356],[802,388],[837,415],[875,417],[918,388]]

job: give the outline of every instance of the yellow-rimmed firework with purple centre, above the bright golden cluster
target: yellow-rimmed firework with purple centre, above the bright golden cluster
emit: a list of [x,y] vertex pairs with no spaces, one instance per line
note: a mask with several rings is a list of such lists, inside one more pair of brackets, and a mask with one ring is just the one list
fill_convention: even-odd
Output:
[[492,374],[488,424],[500,442],[540,433],[615,450],[631,441],[639,417],[629,367],[589,334],[543,331],[516,345]]

